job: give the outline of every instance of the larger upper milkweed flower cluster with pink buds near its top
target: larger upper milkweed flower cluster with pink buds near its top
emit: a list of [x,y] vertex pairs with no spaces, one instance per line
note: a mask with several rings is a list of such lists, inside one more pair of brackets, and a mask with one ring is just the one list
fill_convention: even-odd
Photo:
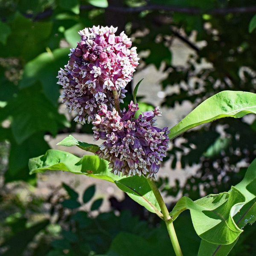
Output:
[[68,64],[58,72],[62,102],[77,113],[75,121],[81,124],[94,120],[98,111],[112,110],[112,90],[118,91],[122,102],[125,86],[139,64],[130,38],[124,32],[116,36],[116,30],[93,26],[79,31],[81,41],[70,49]]

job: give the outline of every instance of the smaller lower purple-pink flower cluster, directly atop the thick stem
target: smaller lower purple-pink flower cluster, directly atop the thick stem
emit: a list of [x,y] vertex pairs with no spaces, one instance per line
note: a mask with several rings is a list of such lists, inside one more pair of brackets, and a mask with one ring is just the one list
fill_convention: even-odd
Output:
[[161,116],[159,107],[146,111],[136,119],[138,104],[128,105],[119,115],[115,108],[96,115],[93,122],[94,140],[106,140],[100,145],[99,157],[110,161],[109,167],[115,175],[144,175],[155,179],[159,161],[163,160],[168,148],[167,127],[160,129],[155,116]]

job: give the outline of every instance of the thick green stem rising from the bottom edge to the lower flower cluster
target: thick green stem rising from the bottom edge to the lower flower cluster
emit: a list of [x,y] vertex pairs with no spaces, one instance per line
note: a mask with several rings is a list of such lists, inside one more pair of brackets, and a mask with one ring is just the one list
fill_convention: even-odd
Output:
[[160,194],[160,192],[157,188],[157,185],[156,185],[156,183],[154,183],[154,180],[150,180],[150,179],[147,179],[147,180],[148,180],[149,186],[151,187],[151,189],[152,189],[152,191],[153,191],[153,193],[154,193],[154,195],[157,199],[157,202],[160,206],[161,212],[163,213],[163,220],[166,223],[166,227],[167,227],[167,230],[168,230],[171,242],[172,242],[172,247],[175,251],[175,254],[176,254],[176,256],[182,256],[183,254],[182,254],[181,249],[180,249],[180,244],[179,244],[179,241],[177,239],[175,229],[174,229],[174,226],[173,226],[173,223],[172,223],[172,218],[169,215],[166,204],[164,203],[163,198],[162,198],[162,196],[161,196],[161,194]]

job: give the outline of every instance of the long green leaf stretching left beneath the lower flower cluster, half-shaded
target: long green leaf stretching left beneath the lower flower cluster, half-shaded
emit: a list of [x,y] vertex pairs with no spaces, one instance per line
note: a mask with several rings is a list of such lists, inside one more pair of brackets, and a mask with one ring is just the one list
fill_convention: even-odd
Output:
[[144,206],[150,212],[162,217],[160,207],[144,176],[119,177],[108,169],[108,161],[96,155],[85,155],[82,158],[73,154],[48,150],[46,154],[29,160],[30,174],[46,172],[47,170],[62,170],[75,174],[84,174],[90,177],[108,180],[126,192],[134,201]]

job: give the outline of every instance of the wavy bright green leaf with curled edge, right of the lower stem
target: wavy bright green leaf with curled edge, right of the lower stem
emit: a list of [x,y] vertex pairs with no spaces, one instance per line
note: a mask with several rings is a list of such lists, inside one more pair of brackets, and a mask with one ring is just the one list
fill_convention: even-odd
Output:
[[180,212],[189,209],[195,231],[201,239],[214,244],[231,244],[242,232],[233,220],[233,213],[241,208],[244,200],[235,187],[230,193],[208,195],[194,202],[182,197],[170,215],[175,219]]

